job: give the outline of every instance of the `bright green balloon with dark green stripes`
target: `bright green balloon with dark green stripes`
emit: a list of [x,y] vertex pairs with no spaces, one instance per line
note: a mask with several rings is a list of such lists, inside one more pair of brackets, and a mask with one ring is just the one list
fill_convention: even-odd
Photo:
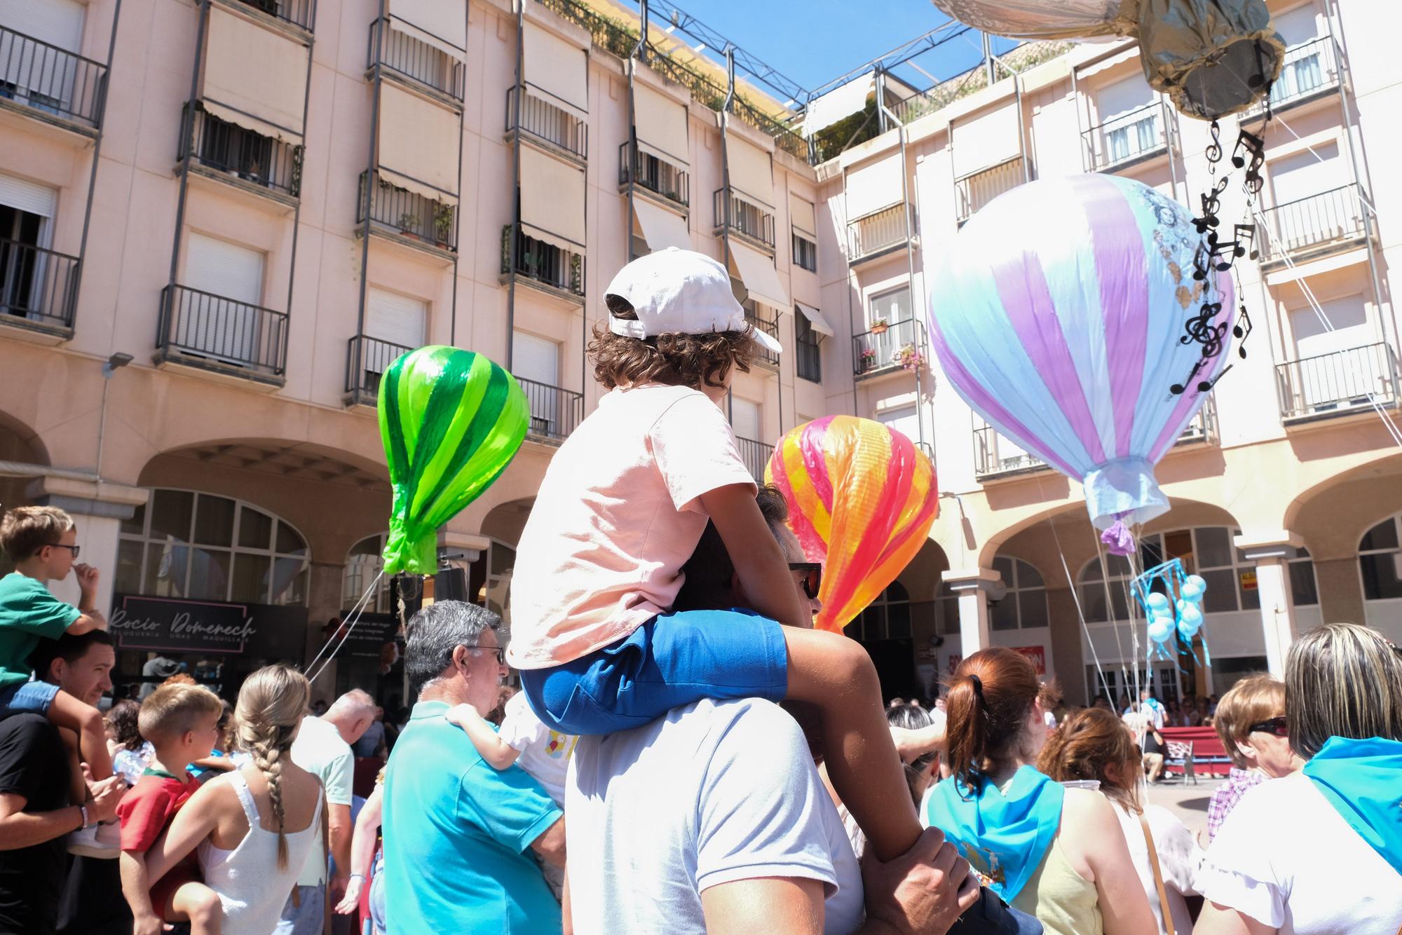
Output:
[[411,350],[380,378],[380,439],[394,507],[384,573],[437,571],[437,530],[516,457],[530,407],[516,378],[479,353]]

